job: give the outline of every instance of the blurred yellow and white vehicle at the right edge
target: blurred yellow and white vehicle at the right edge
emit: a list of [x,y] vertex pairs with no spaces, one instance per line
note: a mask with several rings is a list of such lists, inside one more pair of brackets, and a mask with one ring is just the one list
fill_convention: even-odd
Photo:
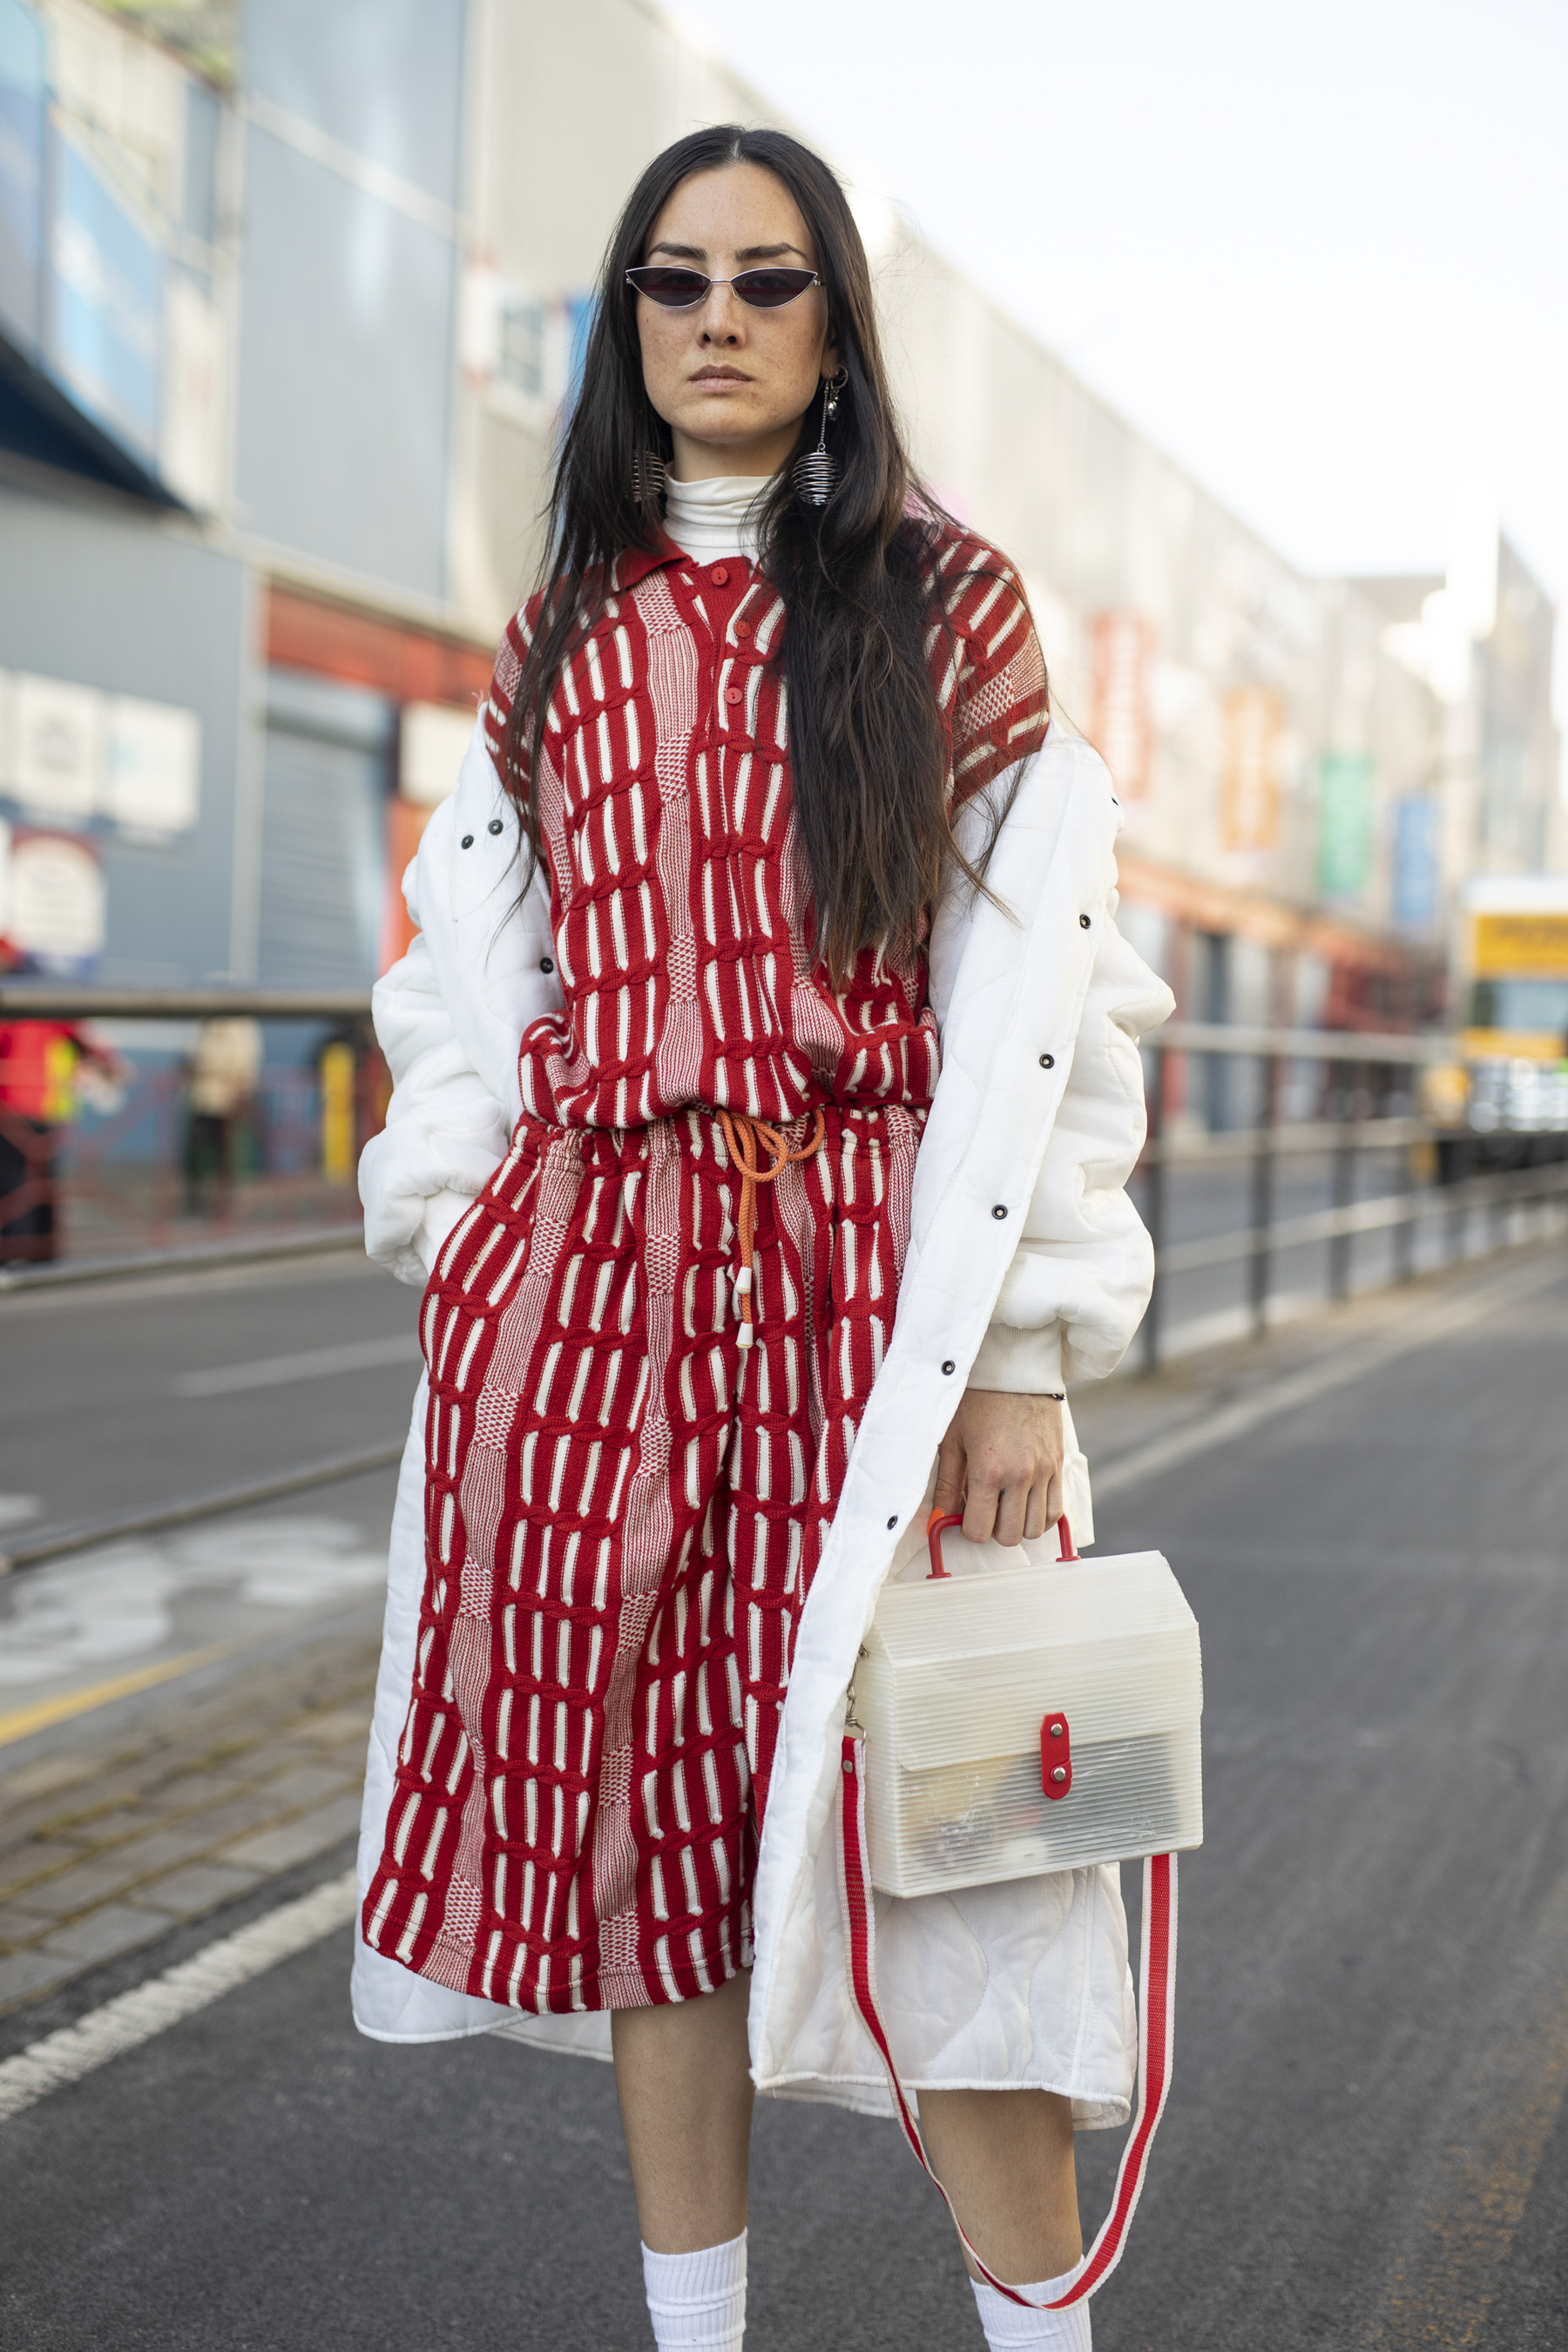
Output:
[[1568,875],[1486,875],[1462,913],[1455,1058],[1425,1073],[1439,1176],[1568,1157]]

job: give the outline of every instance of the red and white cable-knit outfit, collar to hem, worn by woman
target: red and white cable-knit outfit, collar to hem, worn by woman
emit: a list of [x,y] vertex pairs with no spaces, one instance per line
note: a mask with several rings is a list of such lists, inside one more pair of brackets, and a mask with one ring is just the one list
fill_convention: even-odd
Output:
[[[969,793],[1039,743],[1044,666],[992,548],[950,532],[936,576]],[[741,555],[616,567],[545,729],[564,1009],[421,1310],[425,1595],[364,1938],[529,2011],[750,1964],[792,1635],[893,1327],[936,1021],[924,957],[811,964],[783,626]],[[799,1155],[755,1188],[750,1122]]]

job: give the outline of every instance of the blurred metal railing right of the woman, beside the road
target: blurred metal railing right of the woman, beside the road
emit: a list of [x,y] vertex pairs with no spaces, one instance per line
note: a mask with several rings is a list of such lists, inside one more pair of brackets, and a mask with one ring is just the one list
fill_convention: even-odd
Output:
[[[1143,1322],[1143,1362],[1154,1369],[1164,1357],[1171,1284],[1222,1265],[1246,1268],[1246,1317],[1255,1334],[1267,1331],[1276,1296],[1279,1258],[1312,1244],[1328,1244],[1326,1291],[1347,1298],[1354,1284],[1354,1244],[1366,1235],[1389,1235],[1394,1244],[1392,1275],[1406,1282],[1418,1270],[1418,1240],[1436,1244],[1436,1258],[1472,1254],[1474,1218],[1481,1211],[1490,1225],[1490,1247],[1507,1237],[1512,1211],[1542,1207],[1556,1216],[1568,1202],[1568,1136],[1552,1138],[1561,1157],[1547,1164],[1472,1174],[1450,1183],[1439,1178],[1439,1131],[1410,1115],[1413,1089],[1396,1089],[1392,1077],[1410,1080],[1422,1068],[1455,1058],[1448,1037],[1375,1035],[1356,1030],[1286,1030],[1248,1028],[1206,1021],[1173,1021],[1143,1040],[1150,1068],[1150,1134],[1138,1162],[1143,1216],[1154,1240],[1154,1294]],[[1173,1070],[1178,1056],[1199,1063],[1251,1063],[1251,1094],[1258,1117],[1244,1129],[1180,1131],[1173,1127]],[[1305,1091],[1314,1091],[1319,1115],[1281,1120],[1281,1080],[1286,1070],[1316,1073]],[[1298,1084],[1298,1094],[1300,1094]],[[1375,1098],[1387,1105],[1375,1115]],[[1328,1115],[1321,1115],[1321,1112]],[[1368,1155],[1396,1155],[1394,1190],[1359,1195]],[[1291,1162],[1326,1162],[1328,1204],[1276,1214],[1281,1169]],[[1420,1162],[1427,1162],[1425,1171]],[[1246,1202],[1232,1202],[1225,1223],[1204,1235],[1178,1240],[1173,1223],[1175,1169],[1246,1171]],[[1432,1258],[1432,1247],[1427,1251]]]

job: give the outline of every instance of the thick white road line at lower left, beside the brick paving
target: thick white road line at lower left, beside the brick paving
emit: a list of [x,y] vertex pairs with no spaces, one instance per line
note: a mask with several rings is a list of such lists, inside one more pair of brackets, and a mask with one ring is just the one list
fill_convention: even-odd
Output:
[[207,2009],[209,2002],[261,1976],[280,1959],[292,1959],[308,1945],[320,1943],[334,1929],[346,1926],[355,1915],[355,1872],[346,1870],[308,1896],[282,1903],[277,1910],[252,1919],[249,1926],[209,1943],[193,1959],[165,1969],[162,1976],[134,1985],[129,1992],[92,2009],[75,2025],[63,2025],[56,2034],[45,2034],[14,2058],[0,2063],[0,2124],[24,2107],[63,2091],[94,2067],[139,2049],[155,2034],[179,2025],[181,2018]]

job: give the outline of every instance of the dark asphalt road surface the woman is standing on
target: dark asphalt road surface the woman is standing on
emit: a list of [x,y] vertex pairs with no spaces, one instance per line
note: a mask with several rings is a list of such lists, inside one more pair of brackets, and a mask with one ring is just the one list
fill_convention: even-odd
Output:
[[[1100,1505],[1100,1552],[1173,1559],[1208,1691],[1175,2089],[1100,2352],[1568,2347],[1568,1270],[1516,1277]],[[649,2340],[609,2072],[360,2042],[346,1957],[0,2129],[7,2345]],[[1091,2223],[1114,2157],[1079,2140]],[[835,2110],[759,2112],[752,2281],[755,2352],[978,2343],[891,2126]]]

